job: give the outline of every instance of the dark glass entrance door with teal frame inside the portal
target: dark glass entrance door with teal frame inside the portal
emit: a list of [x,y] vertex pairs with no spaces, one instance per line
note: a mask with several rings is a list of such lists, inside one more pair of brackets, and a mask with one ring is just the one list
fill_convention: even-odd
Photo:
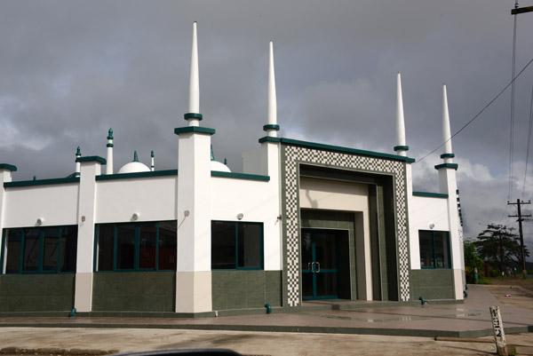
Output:
[[302,297],[338,298],[338,234],[302,229]]

